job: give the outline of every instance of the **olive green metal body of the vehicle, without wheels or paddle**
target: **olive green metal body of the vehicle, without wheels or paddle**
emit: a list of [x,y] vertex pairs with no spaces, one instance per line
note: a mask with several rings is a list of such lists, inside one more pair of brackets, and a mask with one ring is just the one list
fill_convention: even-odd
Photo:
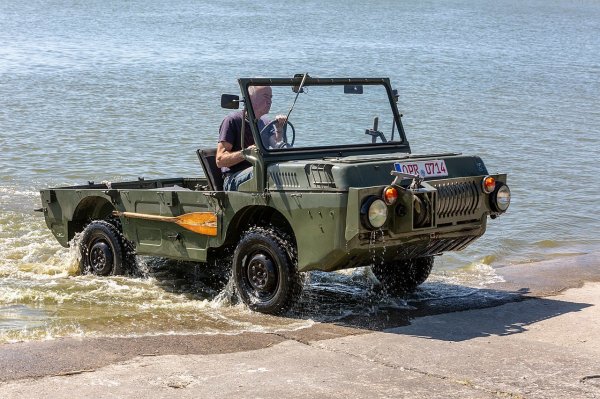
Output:
[[[375,258],[439,255],[461,250],[484,234],[488,216],[495,218],[502,212],[494,206],[493,194],[482,188],[483,179],[490,176],[483,161],[457,153],[411,154],[389,81],[343,81],[376,81],[387,88],[399,126],[397,141],[368,148],[317,147],[297,152],[267,151],[257,145],[244,150],[254,165],[254,178],[236,192],[214,190],[206,177],[48,188],[41,190],[46,223],[60,244],[68,246],[90,221],[121,212],[123,235],[137,254],[196,262],[231,255],[250,226],[268,225],[290,237],[290,245],[297,248],[300,272],[365,266]],[[298,78],[239,82],[243,98],[248,98],[252,84],[299,84]],[[337,79],[308,81],[314,85],[328,82]],[[255,120],[251,107],[247,111]],[[257,127],[251,127],[258,138]],[[399,178],[392,184],[395,177],[390,172],[395,163],[427,160],[443,160],[448,175],[425,178],[418,188],[409,187],[411,179]],[[498,184],[506,183],[505,174],[491,176]],[[381,197],[390,185],[398,189],[398,199],[388,206],[385,224],[370,229],[363,222],[363,204],[369,197]],[[415,197],[426,204],[424,211],[414,209]],[[122,212],[165,217],[208,213],[216,218],[216,234],[199,234],[168,220],[125,217]]]

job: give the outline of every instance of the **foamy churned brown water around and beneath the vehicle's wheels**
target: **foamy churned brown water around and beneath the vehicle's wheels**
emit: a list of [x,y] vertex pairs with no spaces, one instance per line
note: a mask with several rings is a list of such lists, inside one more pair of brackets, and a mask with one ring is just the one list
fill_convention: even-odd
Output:
[[[448,270],[442,257],[441,268],[415,295],[393,298],[380,290],[370,267],[311,272],[289,317],[266,316],[239,303],[231,283],[223,290],[212,286],[206,278],[210,271],[201,264],[138,256],[131,275],[80,275],[79,236],[69,248],[60,247],[43,217],[29,210],[37,193],[23,195],[22,204],[0,213],[0,342],[292,330],[353,317],[369,320],[444,297],[469,298],[474,294],[465,289],[495,278],[493,258]],[[379,247],[382,240],[381,232],[373,232],[373,264],[388,250]]]

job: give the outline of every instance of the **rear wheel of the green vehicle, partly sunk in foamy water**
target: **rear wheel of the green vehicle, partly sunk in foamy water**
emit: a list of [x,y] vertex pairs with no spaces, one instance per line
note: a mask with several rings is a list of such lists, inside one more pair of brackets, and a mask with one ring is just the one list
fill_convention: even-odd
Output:
[[95,220],[87,225],[79,243],[81,270],[98,276],[123,273],[122,234],[111,223]]

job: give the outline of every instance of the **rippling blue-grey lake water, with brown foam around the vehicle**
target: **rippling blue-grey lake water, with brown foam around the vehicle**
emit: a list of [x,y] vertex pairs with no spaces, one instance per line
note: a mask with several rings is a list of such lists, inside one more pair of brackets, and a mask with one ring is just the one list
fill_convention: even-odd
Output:
[[199,175],[194,150],[214,145],[220,94],[240,76],[389,76],[414,152],[478,154],[509,173],[509,212],[439,258],[413,300],[470,295],[501,265],[598,252],[598,20],[593,0],[0,0],[0,342],[274,331],[411,306],[373,294],[364,270],[311,276],[296,319],[229,305],[152,260],[142,279],[76,275],[76,254],[32,211],[37,190]]

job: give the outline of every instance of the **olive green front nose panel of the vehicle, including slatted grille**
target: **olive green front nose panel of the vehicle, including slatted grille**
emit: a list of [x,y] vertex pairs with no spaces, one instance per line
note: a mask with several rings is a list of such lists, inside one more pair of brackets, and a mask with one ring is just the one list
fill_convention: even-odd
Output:
[[[492,175],[501,184],[506,175]],[[397,186],[397,201],[388,205],[379,229],[361,221],[362,204],[381,197],[385,186],[351,188],[348,192],[344,245],[332,248],[306,270],[338,270],[380,261],[439,255],[466,248],[486,230],[487,217],[498,216],[485,193],[486,176],[429,180],[418,189]]]

